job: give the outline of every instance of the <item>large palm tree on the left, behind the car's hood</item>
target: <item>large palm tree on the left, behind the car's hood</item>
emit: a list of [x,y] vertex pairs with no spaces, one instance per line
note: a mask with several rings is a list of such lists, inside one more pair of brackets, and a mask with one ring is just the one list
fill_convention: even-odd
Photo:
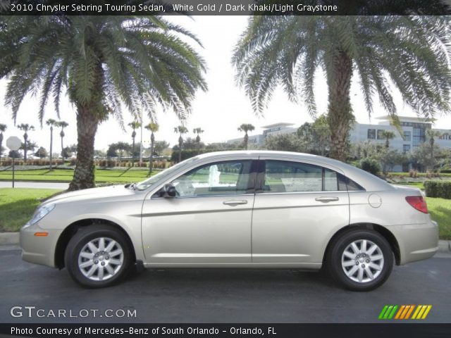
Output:
[[183,118],[197,89],[206,89],[204,60],[190,44],[199,40],[162,16],[3,16],[0,25],[0,79],[14,120],[29,92],[40,96],[41,121],[50,98],[58,113],[63,90],[75,107],[70,190],[94,187],[99,123],[110,115],[121,121],[124,107],[134,118],[157,106]]

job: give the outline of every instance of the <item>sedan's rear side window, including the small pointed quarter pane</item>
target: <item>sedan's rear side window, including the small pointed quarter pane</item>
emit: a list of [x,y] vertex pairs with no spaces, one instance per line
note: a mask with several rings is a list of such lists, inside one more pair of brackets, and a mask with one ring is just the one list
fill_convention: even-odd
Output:
[[263,192],[336,192],[364,190],[344,175],[307,163],[266,161]]

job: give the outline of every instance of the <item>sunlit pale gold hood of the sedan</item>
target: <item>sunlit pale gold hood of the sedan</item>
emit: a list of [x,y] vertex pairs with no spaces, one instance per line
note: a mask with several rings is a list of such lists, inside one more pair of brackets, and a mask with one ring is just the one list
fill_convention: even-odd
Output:
[[[66,192],[48,199],[44,204],[60,204],[72,201],[85,201],[89,199],[114,198],[119,196],[130,196],[135,190],[127,189],[123,185],[112,185],[110,187],[82,189],[75,192]],[[44,205],[43,204],[43,205]]]

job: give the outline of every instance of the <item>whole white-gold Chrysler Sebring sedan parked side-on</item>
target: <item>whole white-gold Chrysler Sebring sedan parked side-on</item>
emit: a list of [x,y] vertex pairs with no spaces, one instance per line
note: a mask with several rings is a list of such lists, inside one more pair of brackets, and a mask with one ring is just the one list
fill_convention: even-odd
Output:
[[351,165],[279,151],[228,151],[124,186],[60,194],[20,231],[23,259],[85,287],[146,268],[299,268],[370,290],[430,258],[438,227],[419,189]]

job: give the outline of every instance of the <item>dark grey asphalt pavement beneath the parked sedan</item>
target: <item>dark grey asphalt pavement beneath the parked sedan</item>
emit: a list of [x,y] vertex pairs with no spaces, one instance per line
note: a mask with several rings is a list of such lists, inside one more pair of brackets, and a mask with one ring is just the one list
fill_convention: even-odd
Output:
[[[1,323],[369,323],[385,304],[432,304],[427,323],[450,323],[451,256],[395,267],[383,287],[347,292],[318,273],[287,270],[146,270],[108,289],[81,289],[66,270],[0,250]],[[137,318],[12,318],[12,306],[55,312],[136,310]],[[412,320],[411,320],[412,322]]]

